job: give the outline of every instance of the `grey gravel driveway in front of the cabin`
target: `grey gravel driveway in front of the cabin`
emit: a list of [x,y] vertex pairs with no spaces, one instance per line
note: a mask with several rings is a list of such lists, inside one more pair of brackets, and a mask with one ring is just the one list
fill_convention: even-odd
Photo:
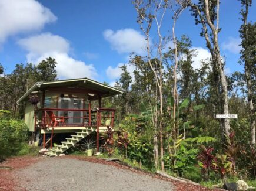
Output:
[[170,182],[114,166],[45,158],[15,173],[17,190],[173,190]]

